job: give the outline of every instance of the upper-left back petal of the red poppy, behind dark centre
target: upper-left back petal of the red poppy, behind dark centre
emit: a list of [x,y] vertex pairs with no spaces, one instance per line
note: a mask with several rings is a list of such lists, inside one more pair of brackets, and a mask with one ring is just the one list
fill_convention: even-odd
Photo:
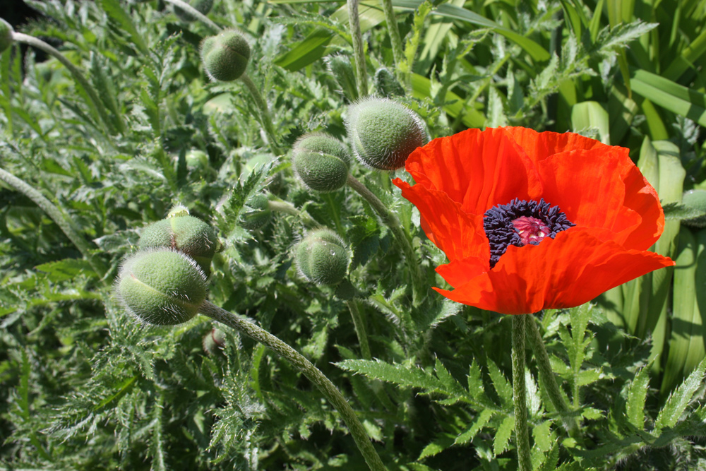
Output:
[[542,188],[533,162],[502,129],[434,139],[409,155],[405,169],[417,184],[445,192],[472,214],[535,198]]

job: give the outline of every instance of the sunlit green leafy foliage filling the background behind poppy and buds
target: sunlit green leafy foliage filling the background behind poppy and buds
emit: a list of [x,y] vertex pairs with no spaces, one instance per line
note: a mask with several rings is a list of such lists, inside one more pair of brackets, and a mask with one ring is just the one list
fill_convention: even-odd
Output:
[[[1,54],[1,167],[58,215],[2,179],[0,467],[365,469],[337,413],[269,350],[221,327],[225,346],[207,355],[206,318],[155,328],[126,317],[112,294],[119,263],[140,228],[180,202],[225,246],[210,300],[322,369],[390,470],[516,469],[509,319],[431,291],[413,306],[402,253],[369,205],[350,189],[312,193],[294,178],[297,138],[346,139],[343,115],[358,93],[345,4],[216,1],[209,13],[251,43],[248,73],[276,143],[241,83],[206,78],[198,44],[213,34],[208,25],[179,22],[159,0],[28,4],[45,18],[23,32],[84,71],[107,114],[55,59],[37,62],[17,46]],[[504,125],[584,133],[629,148],[667,210],[653,250],[676,269],[537,318],[581,428],[570,436],[562,427],[530,364],[534,469],[706,467],[706,210],[681,205],[684,191],[706,190],[706,2],[393,4],[405,38],[398,64],[380,7],[360,6],[371,83],[382,66],[397,73],[406,94],[396,99],[432,138]],[[442,286],[433,268],[445,257],[390,174],[360,165],[352,174],[400,217],[426,285]],[[261,193],[289,203],[288,213],[245,229]],[[375,359],[361,359],[335,290],[297,274],[301,215],[352,247],[350,280]]]

